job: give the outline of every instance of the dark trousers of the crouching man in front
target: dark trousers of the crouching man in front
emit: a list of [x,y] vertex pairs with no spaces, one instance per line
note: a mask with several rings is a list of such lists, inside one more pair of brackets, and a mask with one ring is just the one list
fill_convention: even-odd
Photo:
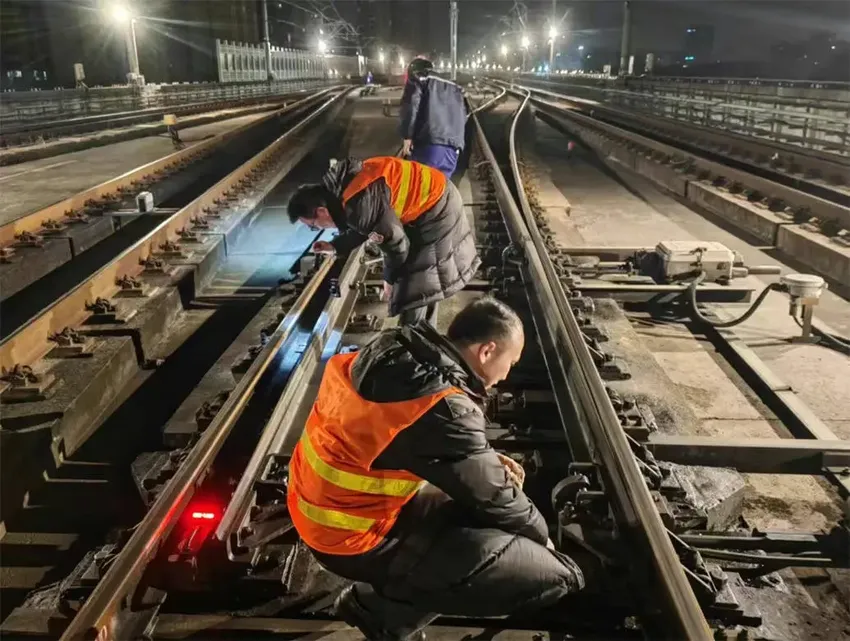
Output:
[[568,557],[531,539],[472,523],[468,510],[426,486],[405,506],[387,541],[357,556],[315,553],[355,581],[373,629],[404,639],[438,615],[526,615],[584,585]]

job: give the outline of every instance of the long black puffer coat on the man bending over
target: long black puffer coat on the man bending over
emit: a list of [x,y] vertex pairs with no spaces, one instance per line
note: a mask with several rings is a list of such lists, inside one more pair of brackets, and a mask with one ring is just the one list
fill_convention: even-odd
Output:
[[[360,171],[360,160],[336,163],[323,178],[330,191],[342,199],[346,186]],[[355,194],[345,207],[331,211],[339,229],[333,245],[346,253],[370,235],[380,239],[384,279],[393,285],[390,315],[422,307],[457,293],[468,283],[480,259],[475,237],[463,211],[463,199],[452,183],[430,211],[402,225],[390,205],[391,193],[379,179]]]

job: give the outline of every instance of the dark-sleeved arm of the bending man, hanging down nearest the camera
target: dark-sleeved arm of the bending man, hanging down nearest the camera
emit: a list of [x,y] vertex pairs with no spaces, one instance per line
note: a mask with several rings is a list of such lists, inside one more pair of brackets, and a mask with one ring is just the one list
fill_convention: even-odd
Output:
[[384,255],[384,280],[395,283],[407,262],[410,240],[390,205],[389,187],[383,179],[377,180],[355,194],[345,206],[350,212],[348,223],[351,228],[364,238],[371,237],[381,249]]

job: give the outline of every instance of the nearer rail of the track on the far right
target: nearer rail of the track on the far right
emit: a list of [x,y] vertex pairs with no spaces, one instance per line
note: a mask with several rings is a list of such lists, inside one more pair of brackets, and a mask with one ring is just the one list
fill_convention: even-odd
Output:
[[741,185],[753,189],[760,194],[779,198],[789,205],[800,209],[807,209],[811,212],[812,217],[815,217],[818,220],[834,220],[842,228],[850,229],[850,207],[845,207],[844,205],[827,200],[826,198],[821,198],[814,194],[801,191],[800,189],[789,187],[769,178],[763,178],[748,171],[736,169],[714,160],[709,160],[696,153],[691,153],[679,147],[659,142],[641,134],[633,133],[623,129],[622,127],[601,122],[595,118],[591,118],[590,116],[576,113],[574,110],[566,109],[563,106],[552,103],[548,100],[544,100],[542,98],[531,98],[531,100],[537,106],[542,105],[543,107],[556,110],[558,112],[557,114],[550,113],[553,117],[573,120],[576,124],[582,127],[596,129],[597,131],[601,131],[607,135],[644,146],[647,149],[667,156],[686,156],[694,162],[694,166],[697,169],[707,171],[712,176],[723,176],[732,182],[740,183]]

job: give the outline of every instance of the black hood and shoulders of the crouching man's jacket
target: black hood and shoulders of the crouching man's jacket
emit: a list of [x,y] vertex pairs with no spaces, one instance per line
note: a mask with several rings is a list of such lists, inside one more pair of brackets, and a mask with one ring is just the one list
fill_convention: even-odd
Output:
[[365,399],[378,403],[410,400],[447,387],[484,402],[484,382],[460,352],[427,322],[382,332],[360,350],[352,382]]

